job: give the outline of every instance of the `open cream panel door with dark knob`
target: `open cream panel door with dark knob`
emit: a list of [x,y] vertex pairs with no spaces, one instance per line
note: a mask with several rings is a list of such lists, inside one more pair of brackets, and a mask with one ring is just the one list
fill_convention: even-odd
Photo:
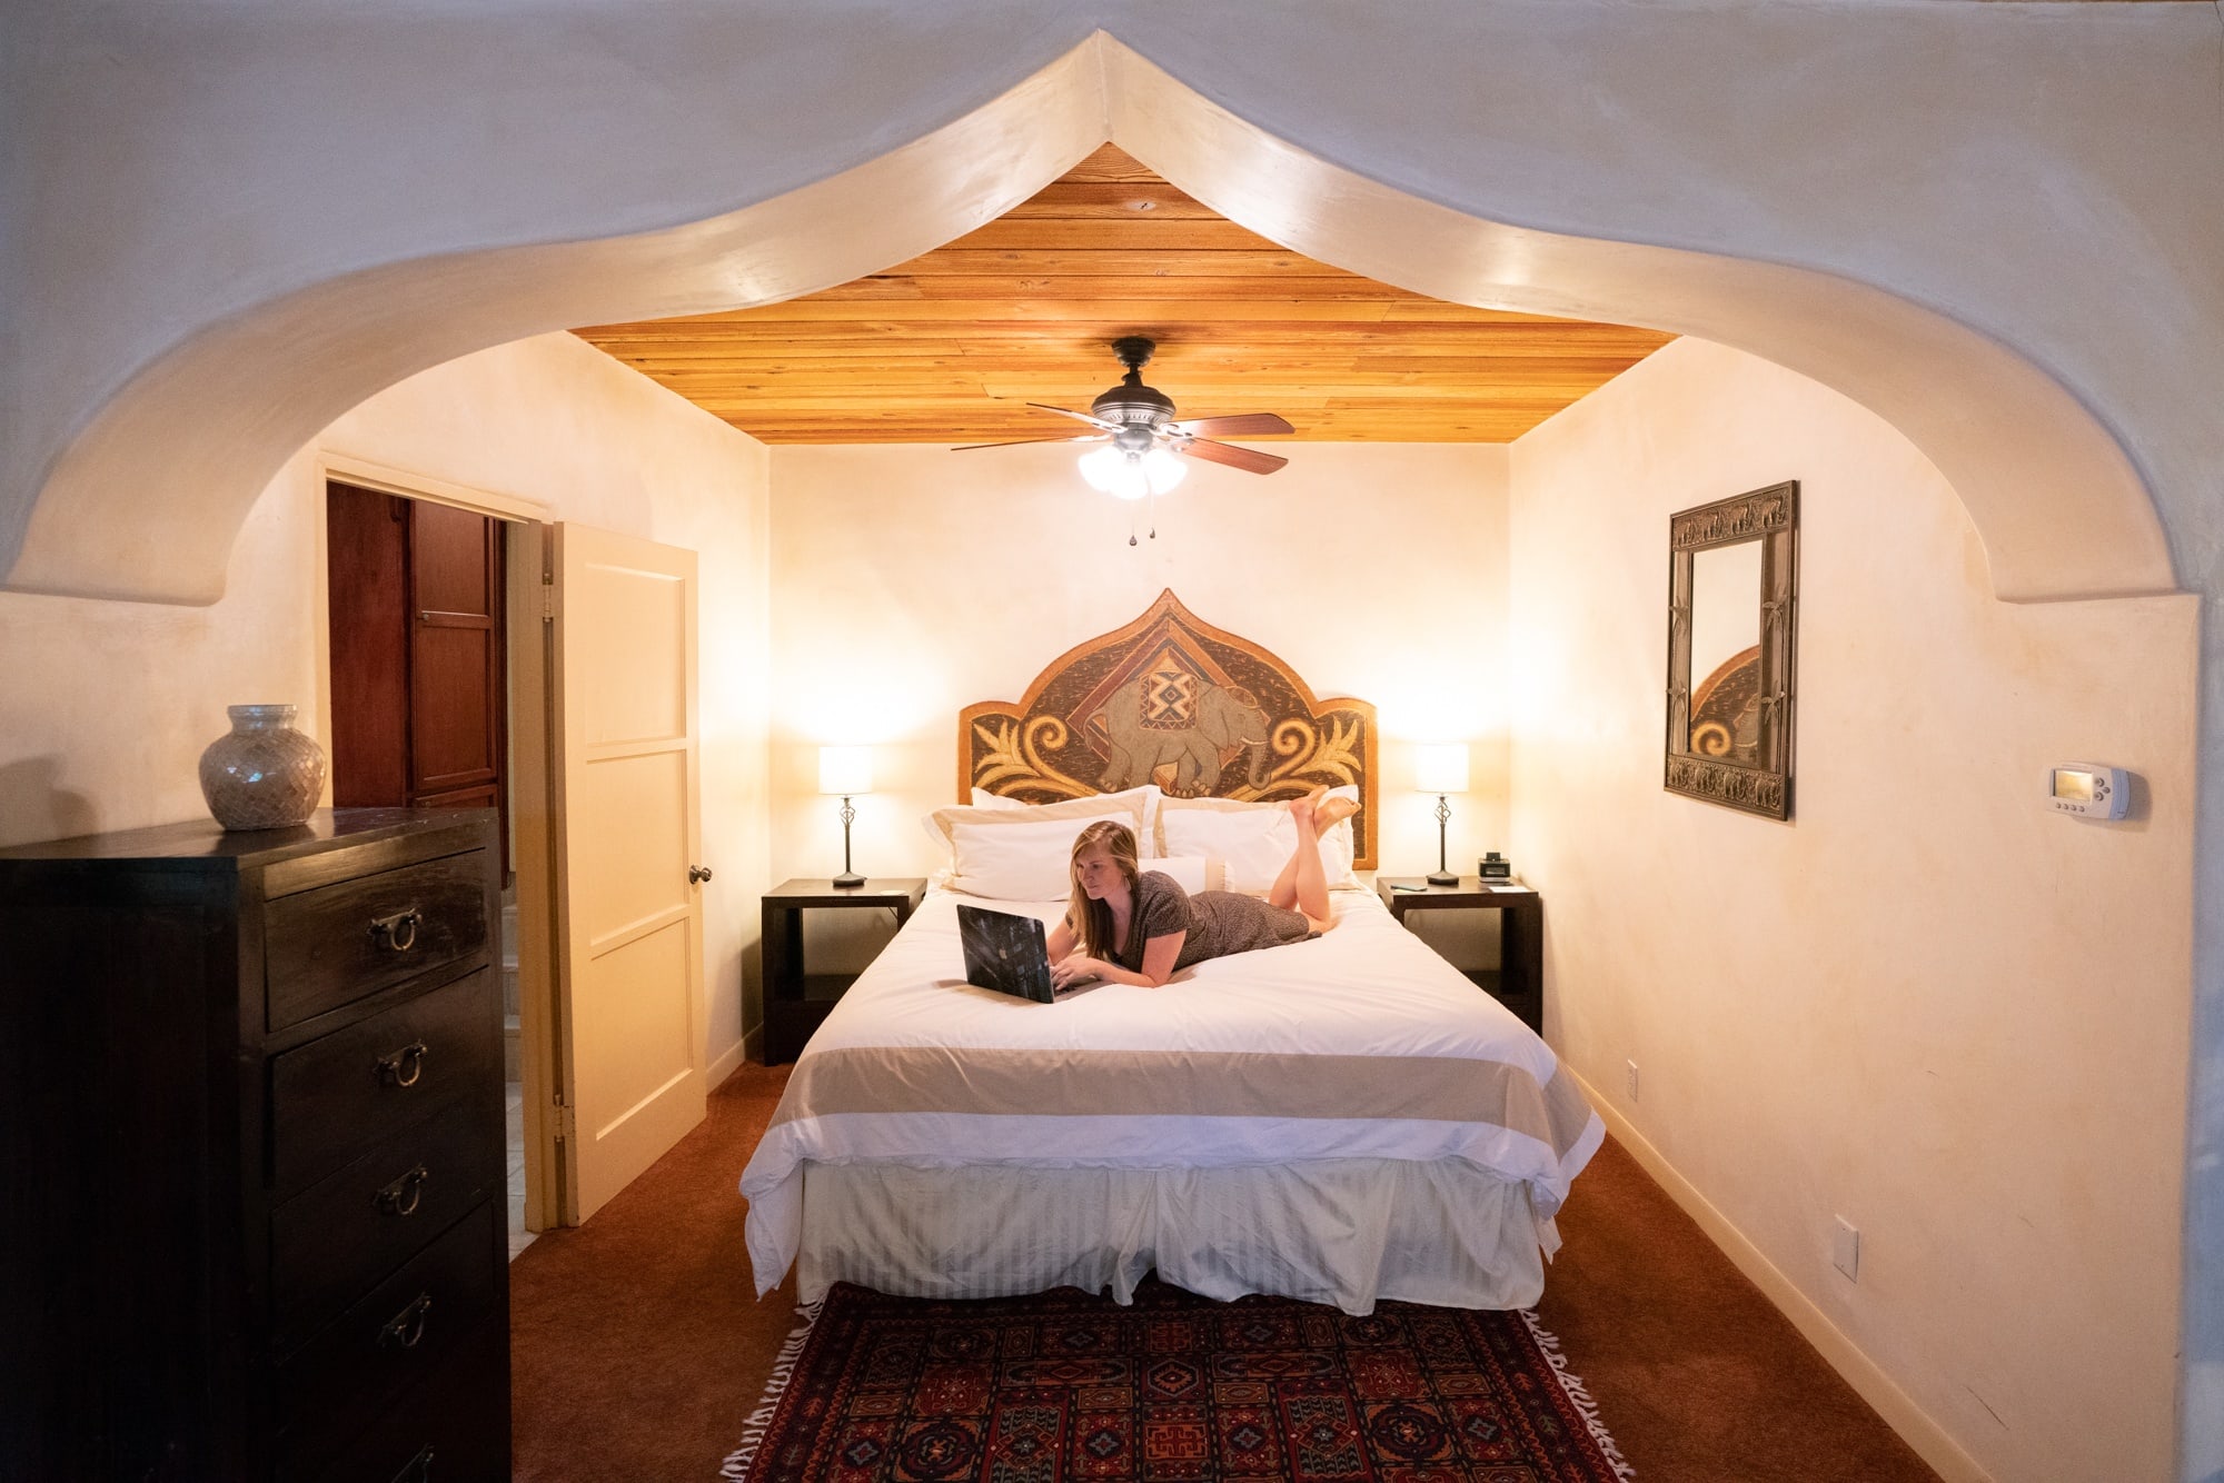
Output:
[[703,1121],[696,554],[554,527],[565,1221]]

